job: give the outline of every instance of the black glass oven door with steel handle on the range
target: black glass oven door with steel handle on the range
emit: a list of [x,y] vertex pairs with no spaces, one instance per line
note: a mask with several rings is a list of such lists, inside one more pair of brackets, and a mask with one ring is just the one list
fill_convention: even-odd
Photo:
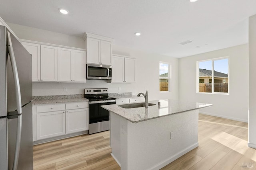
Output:
[[89,102],[89,124],[109,121],[109,111],[100,107],[102,105],[116,104],[115,100],[111,101],[93,101]]

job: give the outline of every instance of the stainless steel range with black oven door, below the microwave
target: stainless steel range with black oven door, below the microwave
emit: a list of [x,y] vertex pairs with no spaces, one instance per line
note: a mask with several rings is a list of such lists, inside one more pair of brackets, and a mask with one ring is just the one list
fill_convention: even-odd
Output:
[[108,88],[84,89],[84,97],[89,100],[89,134],[109,130],[109,111],[102,105],[116,104],[116,98],[108,96]]

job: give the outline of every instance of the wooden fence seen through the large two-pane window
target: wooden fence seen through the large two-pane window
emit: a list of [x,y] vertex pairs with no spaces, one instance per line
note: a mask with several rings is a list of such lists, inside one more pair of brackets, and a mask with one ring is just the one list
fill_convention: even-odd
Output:
[[[212,92],[212,83],[199,83],[199,92]],[[214,83],[214,92],[228,93],[228,83]]]

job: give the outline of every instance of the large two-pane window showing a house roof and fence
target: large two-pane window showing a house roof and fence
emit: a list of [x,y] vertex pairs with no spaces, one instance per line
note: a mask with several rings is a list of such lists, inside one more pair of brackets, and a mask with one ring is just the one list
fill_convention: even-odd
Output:
[[197,68],[197,92],[228,94],[229,58],[198,61]]

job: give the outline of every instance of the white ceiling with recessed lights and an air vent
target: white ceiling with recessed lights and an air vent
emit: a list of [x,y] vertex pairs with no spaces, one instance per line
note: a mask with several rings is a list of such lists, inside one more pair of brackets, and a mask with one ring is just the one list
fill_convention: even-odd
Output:
[[[80,37],[95,33],[178,58],[248,43],[248,17],[255,14],[256,0],[0,0],[6,22]],[[179,44],[186,40],[193,42]]]

